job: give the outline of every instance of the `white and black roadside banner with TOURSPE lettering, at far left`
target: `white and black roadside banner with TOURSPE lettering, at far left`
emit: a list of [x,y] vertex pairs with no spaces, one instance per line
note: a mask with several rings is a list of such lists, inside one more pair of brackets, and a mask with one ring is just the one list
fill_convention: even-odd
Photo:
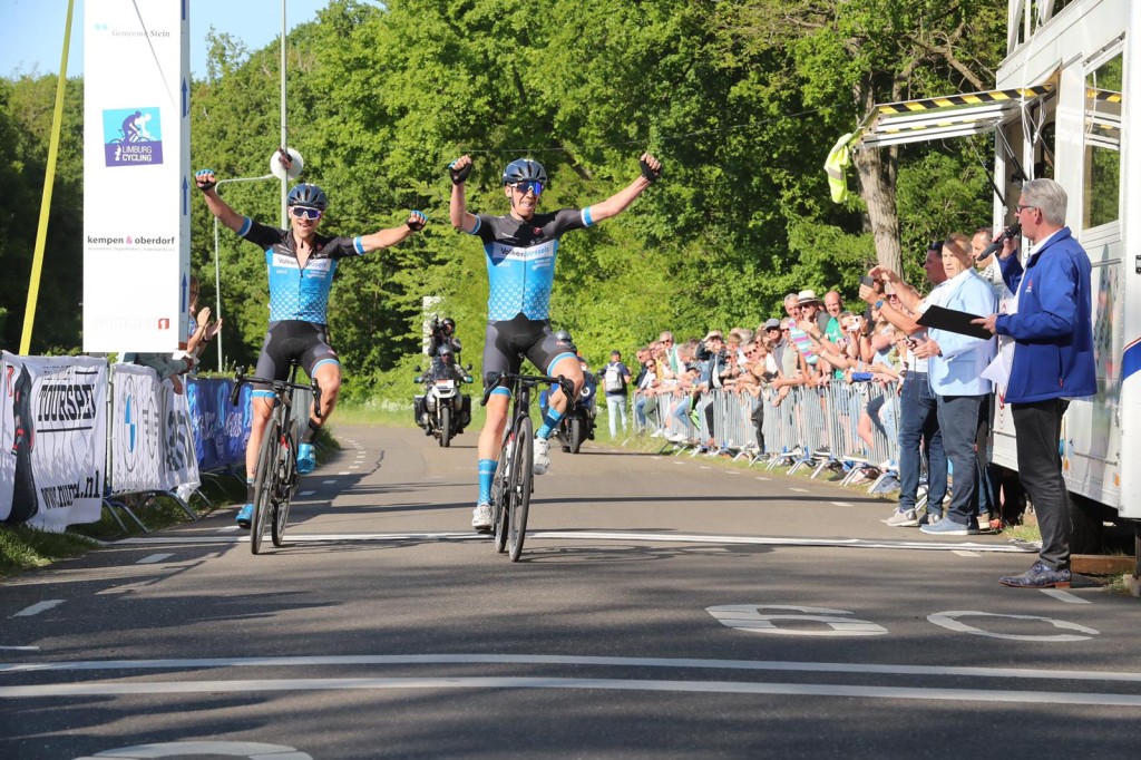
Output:
[[99,519],[107,363],[3,353],[0,519],[59,532]]

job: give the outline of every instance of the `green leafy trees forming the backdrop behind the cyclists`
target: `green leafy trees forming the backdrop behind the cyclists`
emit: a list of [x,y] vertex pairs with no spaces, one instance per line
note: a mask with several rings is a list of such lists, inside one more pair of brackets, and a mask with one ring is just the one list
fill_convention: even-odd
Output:
[[[523,0],[333,0],[286,48],[289,143],[305,156],[305,179],[330,194],[323,231],[373,232],[412,208],[430,219],[423,234],[338,270],[330,328],[346,391],[411,391],[424,297],[443,299],[435,310],[458,320],[463,361],[478,364],[485,258],[447,213],[446,165],[463,153],[476,164],[469,208],[489,213],[508,210],[499,177],[513,157],[547,167],[545,209],[608,197],[637,176],[642,151],[662,159],[662,181],[626,213],[568,234],[559,249],[552,322],[594,362],[663,329],[686,337],[755,326],[779,313],[788,291],[853,296],[860,270],[882,260],[885,235],[897,250],[913,250],[987,221],[985,140],[884,151],[876,181],[891,194],[874,208],[833,204],[822,165],[869,103],[988,87],[1002,49],[995,5],[578,0],[536,14]],[[192,96],[192,161],[222,179],[260,176],[281,142],[277,43],[249,51],[213,30],[210,42],[207,78]],[[3,213],[18,209],[23,223],[3,219],[0,251],[19,266],[33,234],[26,221],[38,203],[49,90],[0,82],[0,172],[14,177],[9,197],[18,199]],[[68,97],[79,91],[70,87]],[[41,347],[79,342],[78,284],[66,281],[80,270],[76,100],[67,107],[75,131],[60,160],[62,216],[49,245],[70,258],[46,268],[60,280],[52,297],[72,299],[71,318]],[[861,178],[868,181],[866,171]],[[240,213],[277,223],[278,183],[226,184],[220,193]],[[895,215],[891,232],[884,220]],[[218,240],[226,355],[250,364],[268,316],[264,257],[227,229]],[[192,257],[212,305],[213,224],[201,202]],[[919,264],[913,258],[907,267]],[[0,285],[6,338],[25,292],[13,280]]]

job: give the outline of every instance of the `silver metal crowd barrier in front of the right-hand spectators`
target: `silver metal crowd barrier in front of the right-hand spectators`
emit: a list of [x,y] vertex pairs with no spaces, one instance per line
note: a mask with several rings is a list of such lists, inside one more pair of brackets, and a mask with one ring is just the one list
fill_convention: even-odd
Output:
[[[869,490],[898,484],[898,387],[832,380],[819,388],[794,387],[785,397],[766,388],[754,398],[744,391],[712,390],[696,396],[680,391],[633,395],[646,422],[634,414],[639,432],[664,438],[663,452],[727,453],[790,472],[812,469],[843,471],[844,483],[872,477]],[[706,407],[712,407],[712,430]],[[760,437],[758,407],[762,407]],[[865,436],[860,435],[860,427]]]

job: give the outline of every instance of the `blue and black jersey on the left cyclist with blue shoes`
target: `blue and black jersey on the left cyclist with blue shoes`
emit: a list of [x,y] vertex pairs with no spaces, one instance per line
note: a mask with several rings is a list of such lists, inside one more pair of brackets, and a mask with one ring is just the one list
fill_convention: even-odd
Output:
[[315,235],[313,253],[301,268],[290,231],[268,227],[246,217],[237,234],[266,252],[270,322],[299,320],[326,324],[329,291],[337,261],[348,256],[364,256],[359,237]]

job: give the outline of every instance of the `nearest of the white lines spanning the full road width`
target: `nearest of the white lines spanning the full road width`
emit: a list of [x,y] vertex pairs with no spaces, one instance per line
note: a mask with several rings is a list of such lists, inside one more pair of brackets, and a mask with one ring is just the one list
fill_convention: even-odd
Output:
[[299,678],[244,681],[168,681],[51,684],[0,687],[0,697],[114,696],[138,694],[217,694],[250,692],[330,692],[357,689],[602,689],[696,694],[770,694],[839,696],[880,700],[998,702],[1027,704],[1141,708],[1141,695],[1073,692],[1005,692],[986,689],[842,686],[830,684],[759,684],[745,681],[666,681],[613,678],[428,677],[428,678]]

